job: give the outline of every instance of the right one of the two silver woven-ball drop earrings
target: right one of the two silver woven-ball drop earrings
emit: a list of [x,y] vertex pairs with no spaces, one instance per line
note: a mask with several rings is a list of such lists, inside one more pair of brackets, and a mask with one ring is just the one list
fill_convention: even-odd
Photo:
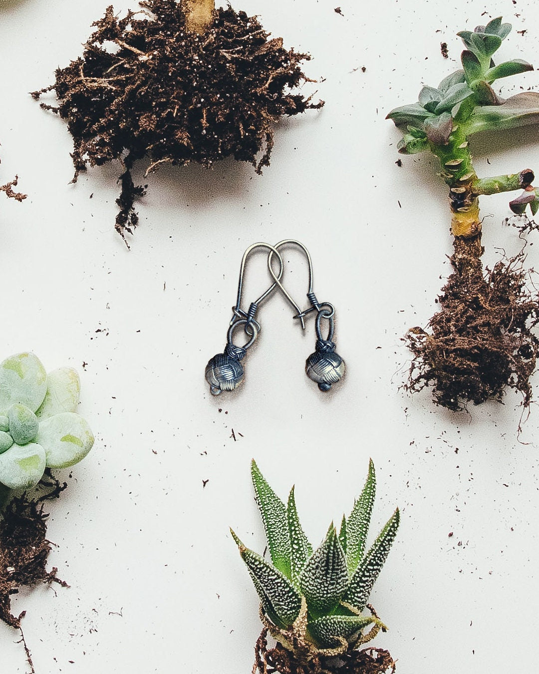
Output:
[[[335,350],[335,344],[333,342],[334,330],[335,330],[335,307],[329,302],[322,302],[316,298],[315,293],[313,293],[313,261],[309,251],[303,243],[295,241],[294,239],[284,239],[279,241],[274,246],[274,249],[278,249],[284,245],[296,245],[303,250],[307,256],[307,262],[309,263],[309,290],[307,291],[307,299],[311,303],[309,309],[301,311],[298,305],[294,302],[292,297],[288,294],[286,288],[280,281],[282,276],[282,259],[280,259],[280,273],[275,274],[272,267],[272,259],[274,251],[271,250],[270,254],[267,256],[267,266],[270,269],[270,274],[272,274],[275,284],[279,286],[284,297],[288,299],[292,307],[298,311],[294,318],[300,319],[301,327],[305,330],[305,316],[307,316],[312,311],[316,311],[316,320],[315,320],[315,331],[317,336],[317,341],[315,345],[315,352],[311,353],[309,358],[305,363],[305,372],[307,377],[315,381],[318,384],[318,388],[321,391],[329,391],[332,384],[336,384],[344,375],[345,365],[343,359]],[[321,334],[321,321],[328,322],[327,337],[324,339]]]

